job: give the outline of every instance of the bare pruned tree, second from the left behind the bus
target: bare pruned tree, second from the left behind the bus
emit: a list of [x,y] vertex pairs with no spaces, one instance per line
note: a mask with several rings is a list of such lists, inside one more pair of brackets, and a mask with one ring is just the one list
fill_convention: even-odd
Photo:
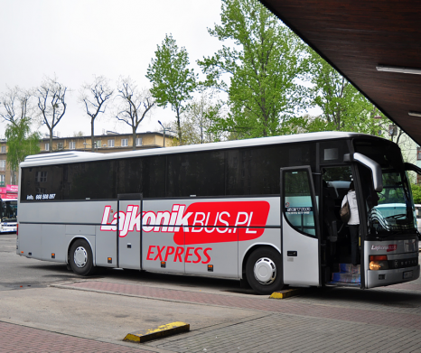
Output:
[[50,153],[52,152],[52,132],[66,113],[65,102],[68,88],[58,82],[57,78],[46,78],[39,88],[35,89],[38,107],[42,115],[42,124],[47,125],[50,132]]

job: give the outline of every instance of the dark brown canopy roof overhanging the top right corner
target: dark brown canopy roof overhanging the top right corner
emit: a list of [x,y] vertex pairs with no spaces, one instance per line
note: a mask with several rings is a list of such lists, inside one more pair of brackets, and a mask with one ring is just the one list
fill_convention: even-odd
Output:
[[420,0],[260,1],[421,144]]

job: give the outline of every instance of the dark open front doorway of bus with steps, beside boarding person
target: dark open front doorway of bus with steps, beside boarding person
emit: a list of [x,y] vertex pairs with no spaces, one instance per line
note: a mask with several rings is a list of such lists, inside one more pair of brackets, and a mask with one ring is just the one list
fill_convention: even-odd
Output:
[[340,217],[342,200],[348,195],[352,180],[349,165],[322,169],[322,238],[325,244],[323,262],[326,284],[360,286],[361,283],[360,235],[357,265],[352,265],[351,227],[343,223]]

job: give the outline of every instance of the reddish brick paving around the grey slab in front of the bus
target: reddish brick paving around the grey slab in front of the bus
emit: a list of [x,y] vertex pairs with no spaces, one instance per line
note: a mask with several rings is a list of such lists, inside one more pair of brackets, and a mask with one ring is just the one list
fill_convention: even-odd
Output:
[[199,314],[213,307],[215,311],[237,308],[248,315],[139,345],[0,322],[0,352],[419,352],[421,348],[420,280],[368,291],[316,289],[285,300],[127,284],[107,278],[52,287],[93,296],[130,296],[149,306],[164,302],[189,305]]

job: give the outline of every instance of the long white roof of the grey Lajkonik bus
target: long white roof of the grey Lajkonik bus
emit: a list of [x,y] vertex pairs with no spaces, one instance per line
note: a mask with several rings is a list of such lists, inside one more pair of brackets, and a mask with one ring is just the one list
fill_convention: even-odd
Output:
[[235,140],[227,142],[218,142],[211,144],[190,144],[185,146],[165,147],[165,148],[151,148],[146,150],[136,150],[127,152],[116,153],[91,153],[80,151],[66,151],[59,153],[40,153],[29,155],[25,158],[20,167],[30,167],[35,165],[49,165],[61,163],[80,163],[89,161],[104,161],[110,159],[122,159],[140,156],[152,156],[172,153],[189,153],[200,151],[211,151],[239,147],[252,147],[252,146],[265,146],[269,144],[293,144],[300,142],[324,141],[333,139],[343,139],[352,137],[369,137],[376,138],[381,141],[387,142],[383,138],[357,134],[357,133],[343,133],[343,132],[320,132],[320,133],[307,133],[295,135],[282,135],[272,137],[250,138],[245,140]]

